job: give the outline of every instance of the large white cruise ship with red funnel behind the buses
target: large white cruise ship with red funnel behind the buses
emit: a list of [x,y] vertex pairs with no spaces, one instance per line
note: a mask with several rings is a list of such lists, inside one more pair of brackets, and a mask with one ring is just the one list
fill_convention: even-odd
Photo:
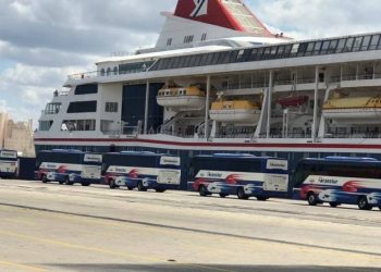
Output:
[[[381,33],[293,40],[243,0],[179,0],[155,48],[69,75],[36,151],[381,159]],[[186,176],[183,177],[184,183]]]

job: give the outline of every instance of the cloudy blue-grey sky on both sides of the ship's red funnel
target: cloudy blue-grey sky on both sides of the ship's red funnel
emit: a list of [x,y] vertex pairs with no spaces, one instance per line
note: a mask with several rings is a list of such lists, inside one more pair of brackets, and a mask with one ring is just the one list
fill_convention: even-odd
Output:
[[[193,1],[193,0],[189,0]],[[0,112],[34,120],[69,74],[112,52],[152,47],[176,0],[0,0]],[[245,0],[296,39],[381,32],[380,0]]]

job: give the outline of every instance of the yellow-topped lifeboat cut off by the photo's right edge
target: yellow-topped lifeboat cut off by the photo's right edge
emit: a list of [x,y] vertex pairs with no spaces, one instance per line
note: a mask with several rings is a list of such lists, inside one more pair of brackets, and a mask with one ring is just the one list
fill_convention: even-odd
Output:
[[380,123],[381,97],[333,98],[327,100],[323,116],[351,124]]

